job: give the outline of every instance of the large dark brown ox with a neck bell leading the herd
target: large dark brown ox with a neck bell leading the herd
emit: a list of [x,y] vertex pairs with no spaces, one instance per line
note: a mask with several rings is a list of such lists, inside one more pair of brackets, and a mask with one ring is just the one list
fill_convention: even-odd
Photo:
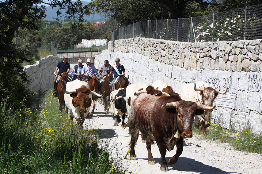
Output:
[[154,96],[140,94],[131,105],[129,129],[131,132],[130,159],[136,160],[135,144],[139,131],[147,136],[146,148],[148,164],[155,164],[151,153],[151,145],[156,141],[161,154],[161,171],[168,171],[165,160],[166,150],[177,147],[176,154],[168,160],[175,164],[183,151],[184,138],[192,137],[192,124],[195,114],[203,114],[203,110],[213,110],[191,101],[181,100],[178,96]]

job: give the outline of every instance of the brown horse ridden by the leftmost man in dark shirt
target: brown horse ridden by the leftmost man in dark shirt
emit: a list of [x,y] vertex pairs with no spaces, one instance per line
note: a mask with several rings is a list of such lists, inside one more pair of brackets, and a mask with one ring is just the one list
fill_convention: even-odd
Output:
[[67,75],[66,72],[63,72],[62,74],[60,74],[60,79],[59,79],[59,82],[57,84],[57,98],[59,100],[59,111],[62,111],[63,108],[66,107],[65,99],[64,99],[65,92],[64,92],[62,85],[61,85],[61,84],[63,84],[64,86],[66,86],[66,82],[69,82],[66,75]]

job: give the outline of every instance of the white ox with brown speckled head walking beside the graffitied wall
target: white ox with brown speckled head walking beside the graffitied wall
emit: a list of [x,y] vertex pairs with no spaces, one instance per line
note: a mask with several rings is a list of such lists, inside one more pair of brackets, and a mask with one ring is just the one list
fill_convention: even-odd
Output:
[[[209,87],[207,82],[198,81],[195,83],[188,83],[182,86],[182,99],[186,101],[193,101],[199,104],[204,104],[206,106],[213,106],[215,98],[218,94],[226,94],[227,88],[225,91],[218,91]],[[196,125],[199,127],[201,124],[202,134],[206,133],[207,127],[210,125],[211,112],[206,111],[202,115],[197,115],[195,117]],[[207,124],[205,124],[207,121]],[[200,124],[199,124],[200,122]]]

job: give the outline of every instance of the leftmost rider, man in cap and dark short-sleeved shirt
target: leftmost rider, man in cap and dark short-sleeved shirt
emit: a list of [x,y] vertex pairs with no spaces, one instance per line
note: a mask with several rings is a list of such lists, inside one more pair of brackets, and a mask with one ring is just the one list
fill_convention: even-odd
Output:
[[[54,81],[54,91],[53,91],[53,96],[57,97],[57,77],[59,74],[62,74],[63,72],[68,73],[70,70],[70,64],[67,62],[68,61],[68,57],[67,56],[63,56],[63,60],[61,62],[59,62],[55,68],[55,81]],[[57,72],[59,68],[59,71]]]

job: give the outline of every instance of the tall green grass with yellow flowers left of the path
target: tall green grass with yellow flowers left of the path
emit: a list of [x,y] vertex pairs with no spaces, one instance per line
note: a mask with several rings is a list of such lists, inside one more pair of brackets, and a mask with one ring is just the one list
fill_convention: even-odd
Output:
[[0,173],[124,173],[93,130],[58,110],[51,90],[39,106],[0,106]]

